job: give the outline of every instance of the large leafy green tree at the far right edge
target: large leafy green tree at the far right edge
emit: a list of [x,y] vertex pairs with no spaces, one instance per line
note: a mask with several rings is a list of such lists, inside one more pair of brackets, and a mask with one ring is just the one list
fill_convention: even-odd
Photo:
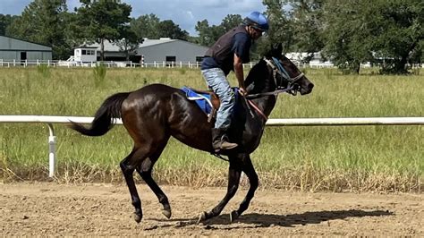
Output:
[[407,72],[408,61],[422,54],[423,5],[420,0],[327,0],[326,55],[351,72],[368,61],[384,63],[382,72]]

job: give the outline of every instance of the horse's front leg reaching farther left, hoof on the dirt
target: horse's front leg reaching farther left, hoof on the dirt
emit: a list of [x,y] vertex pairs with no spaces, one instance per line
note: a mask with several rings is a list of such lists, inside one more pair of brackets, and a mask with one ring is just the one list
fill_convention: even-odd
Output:
[[231,200],[239,188],[240,175],[242,169],[240,166],[241,161],[239,159],[232,159],[230,157],[230,168],[228,172],[228,188],[223,200],[221,200],[215,208],[209,212],[203,212],[200,214],[198,224],[208,220],[209,218],[218,216],[221,211],[225,208],[225,205]]

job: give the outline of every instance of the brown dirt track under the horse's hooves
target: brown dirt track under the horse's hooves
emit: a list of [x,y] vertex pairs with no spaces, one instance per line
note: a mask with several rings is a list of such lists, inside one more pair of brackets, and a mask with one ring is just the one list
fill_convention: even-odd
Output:
[[223,214],[196,225],[224,189],[167,187],[173,217],[166,219],[151,191],[139,185],[144,217],[137,225],[125,185],[55,183],[0,184],[0,234],[21,235],[413,235],[424,236],[423,194],[352,194],[257,191],[250,208],[233,224],[245,190]]

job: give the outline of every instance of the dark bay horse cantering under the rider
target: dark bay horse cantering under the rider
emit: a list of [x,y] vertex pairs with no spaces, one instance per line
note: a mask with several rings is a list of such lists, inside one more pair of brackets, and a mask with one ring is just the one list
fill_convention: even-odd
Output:
[[[224,199],[215,208],[200,214],[199,222],[221,213],[237,191],[242,172],[249,177],[250,189],[240,208],[231,212],[230,220],[233,222],[249,207],[259,183],[250,153],[259,146],[267,116],[276,105],[276,94],[285,89],[293,94],[299,91],[301,95],[305,95],[313,88],[306,76],[282,55],[281,45],[270,50],[250,70],[245,83],[249,95],[253,96],[251,104],[245,98],[238,98],[229,131],[230,140],[237,142],[239,146],[223,153],[229,161],[228,188]],[[135,221],[140,223],[142,210],[133,179],[134,170],[157,195],[163,205],[165,217],[171,217],[170,204],[165,193],[153,180],[152,168],[171,136],[191,148],[213,152],[211,128],[214,123],[208,123],[208,117],[193,101],[185,97],[181,89],[151,84],[106,98],[89,128],[79,123],[72,123],[71,127],[84,135],[101,136],[114,126],[114,118],[122,118],[123,126],[134,140],[130,155],[123,159],[120,166],[131,193]]]

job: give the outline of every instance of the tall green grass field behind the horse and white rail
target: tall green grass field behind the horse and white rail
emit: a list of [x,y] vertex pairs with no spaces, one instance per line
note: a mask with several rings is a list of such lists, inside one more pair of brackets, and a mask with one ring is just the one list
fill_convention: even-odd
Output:
[[[308,96],[280,95],[271,118],[424,116],[424,76],[343,75],[305,70]],[[204,89],[191,69],[0,68],[1,115],[92,116],[116,92],[160,82]],[[235,86],[233,74],[230,76]],[[122,183],[119,161],[131,150],[123,126],[100,138],[56,124],[60,183]],[[47,125],[0,123],[0,181],[47,178]],[[267,127],[252,155],[261,188],[302,191],[422,191],[423,126]],[[225,185],[227,162],[170,140],[155,166],[160,183]],[[137,175],[138,176],[138,175]]]

